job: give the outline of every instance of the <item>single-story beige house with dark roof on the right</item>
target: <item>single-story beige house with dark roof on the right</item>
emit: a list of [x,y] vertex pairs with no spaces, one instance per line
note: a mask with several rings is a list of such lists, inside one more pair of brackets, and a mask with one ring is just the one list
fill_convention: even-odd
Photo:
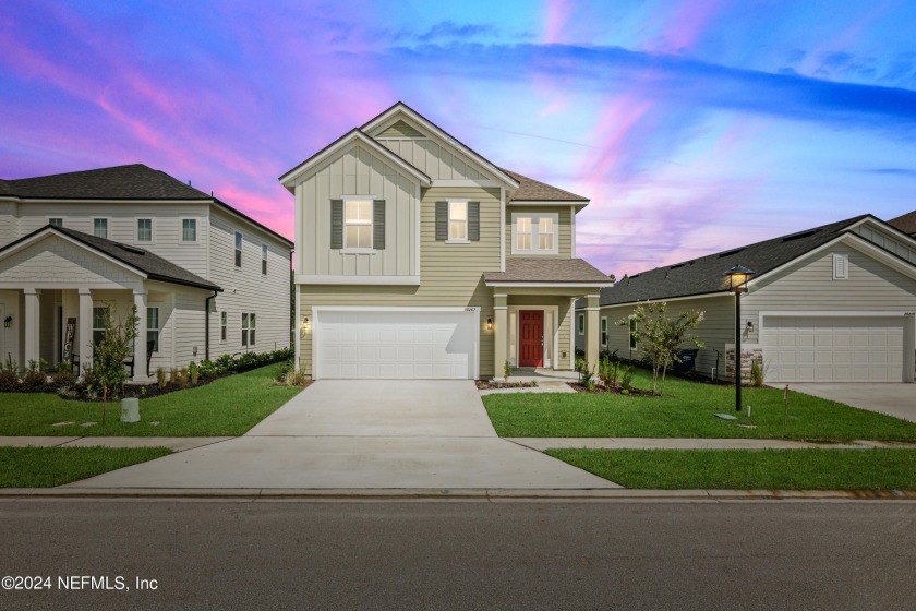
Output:
[[[702,310],[697,369],[734,380],[735,297],[726,269],[757,272],[742,295],[743,373],[768,382],[912,382],[916,369],[916,240],[871,215],[659,267],[601,293],[602,350],[640,358],[628,325],[639,302]],[[577,313],[580,337],[584,313]]]

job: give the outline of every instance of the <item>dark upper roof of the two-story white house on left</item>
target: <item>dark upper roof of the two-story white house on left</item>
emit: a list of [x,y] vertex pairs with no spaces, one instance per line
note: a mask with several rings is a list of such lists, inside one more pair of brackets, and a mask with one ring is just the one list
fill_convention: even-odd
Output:
[[143,164],[113,166],[34,178],[0,180],[0,196],[20,200],[128,200],[131,203],[196,200],[212,202],[285,244],[292,242],[229,204]]

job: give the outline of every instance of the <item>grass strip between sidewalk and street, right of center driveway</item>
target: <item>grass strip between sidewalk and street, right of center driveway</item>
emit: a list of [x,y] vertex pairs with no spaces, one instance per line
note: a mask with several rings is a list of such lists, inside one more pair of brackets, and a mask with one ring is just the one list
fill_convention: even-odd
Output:
[[625,488],[915,490],[913,450],[549,450]]

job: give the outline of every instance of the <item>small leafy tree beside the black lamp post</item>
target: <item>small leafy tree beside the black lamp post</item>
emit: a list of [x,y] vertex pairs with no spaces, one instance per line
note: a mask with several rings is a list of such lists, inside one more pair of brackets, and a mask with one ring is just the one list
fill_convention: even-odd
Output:
[[[682,312],[676,319],[667,315],[667,303],[659,301],[646,306],[637,306],[632,318],[636,319],[636,331],[630,335],[642,346],[642,350],[652,363],[652,392],[655,393],[659,372],[662,374],[659,396],[665,392],[665,375],[670,367],[680,362],[680,347],[687,342],[697,348],[706,346],[700,339],[691,335],[689,330],[697,328],[703,320],[703,312],[690,310]],[[620,326],[629,326],[630,319],[617,321]]]

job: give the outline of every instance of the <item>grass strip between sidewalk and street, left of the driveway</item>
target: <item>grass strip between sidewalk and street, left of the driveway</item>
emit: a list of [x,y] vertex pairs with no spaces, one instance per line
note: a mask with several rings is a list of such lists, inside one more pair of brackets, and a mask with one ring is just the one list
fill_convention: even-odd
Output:
[[167,447],[0,447],[0,488],[52,488],[167,454]]

